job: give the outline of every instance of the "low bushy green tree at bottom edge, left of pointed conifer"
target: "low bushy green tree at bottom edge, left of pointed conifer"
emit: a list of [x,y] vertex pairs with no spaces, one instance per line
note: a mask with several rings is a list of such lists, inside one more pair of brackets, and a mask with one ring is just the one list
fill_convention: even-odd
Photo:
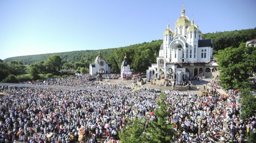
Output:
[[147,140],[147,135],[144,132],[145,122],[143,119],[135,119],[128,121],[127,128],[119,131],[119,137],[122,143],[143,143]]

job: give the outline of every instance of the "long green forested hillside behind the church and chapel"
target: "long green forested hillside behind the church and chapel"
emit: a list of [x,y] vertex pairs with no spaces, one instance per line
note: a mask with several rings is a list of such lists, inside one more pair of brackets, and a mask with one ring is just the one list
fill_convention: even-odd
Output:
[[[214,54],[218,50],[223,50],[227,47],[239,47],[241,42],[256,39],[256,28],[225,31],[225,32],[213,32],[202,35],[203,39],[212,39]],[[135,69],[138,72],[145,72],[147,66],[155,62],[156,56],[162,40],[153,40],[152,42],[144,42],[141,44],[130,45],[126,47],[103,49],[100,50],[102,56],[106,62],[111,64],[111,72],[119,72],[120,64],[124,60],[124,54],[126,53],[128,60],[131,62],[131,69]],[[17,60],[22,61],[23,64],[35,63],[38,61],[45,61],[47,57],[51,55],[59,55],[63,64],[65,62],[82,62],[89,61],[94,62],[94,59],[98,55],[99,50],[85,50],[85,51],[72,51],[63,53],[52,53],[52,54],[38,54],[38,55],[27,55],[6,58],[4,62]]]

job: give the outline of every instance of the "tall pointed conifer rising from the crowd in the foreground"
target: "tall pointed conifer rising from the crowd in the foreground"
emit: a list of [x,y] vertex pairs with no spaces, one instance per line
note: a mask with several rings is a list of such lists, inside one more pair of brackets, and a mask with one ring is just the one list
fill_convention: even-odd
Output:
[[169,115],[171,111],[167,111],[168,104],[165,102],[167,95],[162,93],[158,100],[159,108],[154,112],[157,121],[152,121],[147,129],[151,137],[147,143],[170,143],[174,141],[176,132],[173,130],[174,125],[170,123]]

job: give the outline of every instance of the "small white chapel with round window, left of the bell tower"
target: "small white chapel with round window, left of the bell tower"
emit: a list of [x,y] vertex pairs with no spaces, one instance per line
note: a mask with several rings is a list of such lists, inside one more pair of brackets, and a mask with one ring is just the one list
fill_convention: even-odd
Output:
[[106,63],[105,59],[101,56],[99,51],[99,55],[96,57],[94,64],[89,65],[90,75],[98,74],[98,73],[111,73],[111,65]]

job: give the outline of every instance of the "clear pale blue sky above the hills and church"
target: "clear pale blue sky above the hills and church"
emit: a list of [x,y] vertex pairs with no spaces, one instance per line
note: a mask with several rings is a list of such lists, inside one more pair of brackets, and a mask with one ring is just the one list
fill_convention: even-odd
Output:
[[0,59],[162,39],[183,1],[202,33],[256,27],[256,0],[0,0]]

